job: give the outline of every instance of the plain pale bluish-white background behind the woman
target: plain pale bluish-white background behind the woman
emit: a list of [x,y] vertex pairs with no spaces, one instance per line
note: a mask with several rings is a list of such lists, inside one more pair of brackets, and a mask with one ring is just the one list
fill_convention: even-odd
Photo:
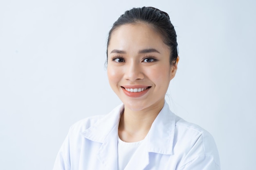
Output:
[[166,11],[180,63],[166,100],[215,138],[222,170],[254,170],[254,0],[1,0],[0,166],[49,170],[69,127],[120,100],[104,63],[108,31],[132,7]]

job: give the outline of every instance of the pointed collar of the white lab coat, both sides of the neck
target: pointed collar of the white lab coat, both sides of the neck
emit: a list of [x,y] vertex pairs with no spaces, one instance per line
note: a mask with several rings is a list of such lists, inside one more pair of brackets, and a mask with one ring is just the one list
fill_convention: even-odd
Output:
[[[94,142],[105,143],[118,139],[118,126],[120,115],[124,111],[124,105],[121,104],[113,109],[82,134],[85,138]],[[175,115],[169,109],[164,101],[164,107],[155,118],[150,131],[148,132],[148,152],[160,153],[166,155],[173,154],[173,139],[175,132]]]

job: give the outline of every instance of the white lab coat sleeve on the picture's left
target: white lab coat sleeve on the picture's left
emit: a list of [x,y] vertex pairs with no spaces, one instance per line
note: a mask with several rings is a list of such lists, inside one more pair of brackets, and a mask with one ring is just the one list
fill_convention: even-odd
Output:
[[58,155],[53,170],[70,170],[70,132],[67,134]]

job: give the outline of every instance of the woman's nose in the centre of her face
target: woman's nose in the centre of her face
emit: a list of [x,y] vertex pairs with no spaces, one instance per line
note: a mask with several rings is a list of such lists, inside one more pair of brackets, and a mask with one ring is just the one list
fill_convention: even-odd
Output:
[[141,68],[141,65],[136,62],[127,63],[124,72],[124,78],[129,81],[136,81],[144,78],[143,69]]

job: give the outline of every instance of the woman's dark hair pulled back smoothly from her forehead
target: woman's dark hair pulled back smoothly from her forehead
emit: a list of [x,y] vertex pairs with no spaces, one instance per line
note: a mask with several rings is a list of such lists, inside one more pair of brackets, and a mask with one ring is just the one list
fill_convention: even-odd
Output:
[[133,8],[126,11],[118,18],[108,33],[107,58],[108,45],[112,32],[121,25],[137,23],[150,24],[155,31],[162,35],[164,44],[166,44],[171,51],[170,65],[175,64],[178,56],[176,32],[174,30],[173,24],[171,24],[169,15],[166,12],[160,11],[154,7]]

